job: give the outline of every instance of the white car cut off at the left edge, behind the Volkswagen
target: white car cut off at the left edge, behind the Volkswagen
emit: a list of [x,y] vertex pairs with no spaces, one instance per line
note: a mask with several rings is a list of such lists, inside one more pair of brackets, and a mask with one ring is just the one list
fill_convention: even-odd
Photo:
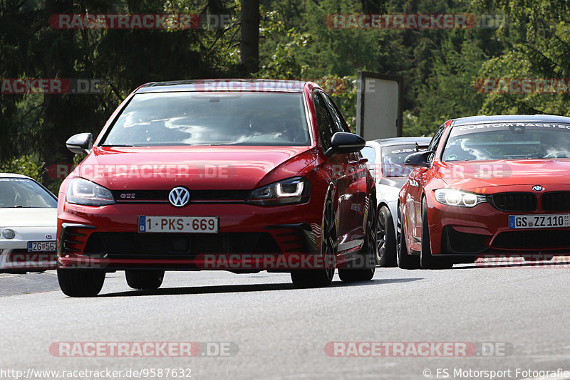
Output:
[[30,177],[0,173],[0,272],[57,268],[57,204]]

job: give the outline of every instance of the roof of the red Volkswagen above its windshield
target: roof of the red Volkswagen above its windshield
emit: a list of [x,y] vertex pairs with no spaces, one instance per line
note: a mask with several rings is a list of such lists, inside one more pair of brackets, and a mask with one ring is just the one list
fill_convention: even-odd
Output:
[[315,83],[301,80],[273,79],[197,79],[173,80],[170,82],[152,82],[140,86],[135,93],[172,93],[189,92],[271,92],[302,93],[306,84],[318,87]]

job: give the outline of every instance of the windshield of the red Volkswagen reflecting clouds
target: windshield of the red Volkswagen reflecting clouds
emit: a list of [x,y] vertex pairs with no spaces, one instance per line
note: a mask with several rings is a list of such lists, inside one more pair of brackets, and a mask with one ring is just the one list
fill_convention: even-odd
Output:
[[300,93],[142,93],[102,145],[310,145]]

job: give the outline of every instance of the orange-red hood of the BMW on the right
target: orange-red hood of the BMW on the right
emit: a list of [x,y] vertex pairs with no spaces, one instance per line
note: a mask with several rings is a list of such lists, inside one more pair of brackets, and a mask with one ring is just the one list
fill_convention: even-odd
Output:
[[452,188],[489,193],[497,186],[564,184],[569,175],[570,159],[440,162],[435,172]]

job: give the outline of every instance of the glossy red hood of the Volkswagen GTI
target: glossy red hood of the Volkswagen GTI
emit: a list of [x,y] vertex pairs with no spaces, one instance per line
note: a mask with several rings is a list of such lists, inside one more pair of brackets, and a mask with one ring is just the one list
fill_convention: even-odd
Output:
[[73,172],[111,190],[255,189],[279,167],[280,179],[314,161],[311,147],[95,147]]

